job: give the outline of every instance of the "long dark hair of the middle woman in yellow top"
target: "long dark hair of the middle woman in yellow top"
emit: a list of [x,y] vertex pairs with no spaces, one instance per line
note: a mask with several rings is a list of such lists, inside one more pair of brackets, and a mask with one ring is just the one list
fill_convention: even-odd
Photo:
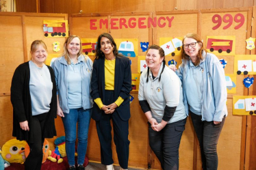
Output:
[[113,47],[113,53],[114,53],[115,57],[123,56],[123,55],[118,54],[118,50],[116,48],[116,42],[114,42],[114,39],[112,38],[110,33],[101,33],[101,35],[99,35],[98,40],[97,40],[95,59],[105,58],[104,53],[101,52],[101,38],[103,38],[103,37],[105,37],[108,40],[110,40],[110,43],[111,43],[111,45]]

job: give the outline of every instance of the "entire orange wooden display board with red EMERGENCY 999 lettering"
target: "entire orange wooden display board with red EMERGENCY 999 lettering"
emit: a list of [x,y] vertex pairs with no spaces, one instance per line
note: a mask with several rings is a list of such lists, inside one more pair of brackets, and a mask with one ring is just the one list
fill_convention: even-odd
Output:
[[[131,95],[131,119],[129,120],[129,166],[152,169],[160,169],[159,161],[150,150],[147,120],[140,109],[138,102],[138,82],[140,68],[143,68],[143,58],[146,52],[141,48],[140,42],[157,44],[166,48],[166,63],[174,59],[177,66],[181,63],[179,47],[182,37],[187,33],[201,35],[205,47],[216,53],[218,59],[225,59],[225,74],[234,74],[235,55],[249,55],[246,50],[245,40],[250,36],[255,38],[255,32],[251,30],[251,18],[256,16],[253,8],[235,8],[223,10],[191,10],[174,12],[125,12],[115,14],[73,14],[68,20],[70,34],[80,36],[84,43],[82,49],[88,52],[94,60],[95,40],[101,33],[110,33],[117,42],[120,53],[130,56],[131,71],[133,74],[133,87]],[[244,18],[244,20],[242,19]],[[0,119],[3,133],[0,146],[12,138],[12,104],[10,103],[10,83],[15,68],[28,61],[30,44],[40,39],[46,42],[49,56],[61,55],[65,38],[44,38],[42,30],[43,20],[66,20],[66,14],[28,14],[28,13],[0,13],[0,53],[3,55],[0,63]],[[254,22],[255,24],[255,22]],[[256,25],[256,24],[255,24]],[[11,31],[10,31],[11,30]],[[256,30],[256,29],[253,29]],[[228,37],[226,37],[228,36]],[[53,51],[53,42],[60,42],[60,51]],[[214,41],[211,42],[210,41]],[[212,47],[222,46],[221,48]],[[128,46],[127,46],[128,45]],[[145,45],[145,44],[144,44]],[[166,45],[166,46],[165,46]],[[168,45],[168,46],[167,46]],[[229,46],[224,47],[223,46]],[[232,48],[230,48],[232,47]],[[229,50],[229,51],[228,51]],[[221,53],[220,53],[221,52]],[[255,50],[251,51],[255,54]],[[253,75],[251,75],[253,76]],[[231,76],[232,77],[232,76]],[[236,90],[228,94],[227,108],[229,115],[218,141],[218,169],[244,169],[246,161],[250,159],[251,124],[246,124],[246,117],[233,115],[233,96],[253,96],[255,85],[251,89],[244,87],[242,81],[244,75],[235,75]],[[248,121],[248,120],[247,120]],[[64,135],[62,120],[55,120],[57,136]],[[247,127],[247,128],[246,128]],[[252,130],[253,131],[253,130]],[[53,148],[50,139],[51,148]],[[245,148],[246,146],[246,148]],[[112,142],[114,163],[118,164],[114,141]],[[100,161],[100,145],[97,136],[95,122],[90,123],[88,138],[88,158]],[[181,138],[179,149],[179,169],[201,169],[201,156],[199,145],[192,127],[190,117],[187,119],[185,131]],[[247,166],[247,165],[246,165]],[[248,166],[247,166],[248,167]]]

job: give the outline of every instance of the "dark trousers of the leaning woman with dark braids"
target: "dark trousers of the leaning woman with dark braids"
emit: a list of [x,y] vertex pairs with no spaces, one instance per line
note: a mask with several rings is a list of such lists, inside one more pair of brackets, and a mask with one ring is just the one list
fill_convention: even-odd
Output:
[[149,124],[149,145],[164,170],[179,169],[179,144],[185,130],[185,122],[186,118],[166,124],[159,132],[153,130]]

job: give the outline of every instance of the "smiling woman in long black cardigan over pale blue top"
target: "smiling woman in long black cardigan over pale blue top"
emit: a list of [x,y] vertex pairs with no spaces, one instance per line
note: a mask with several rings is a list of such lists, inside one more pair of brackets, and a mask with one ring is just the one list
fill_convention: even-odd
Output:
[[25,169],[41,169],[44,138],[56,135],[56,85],[53,69],[44,64],[47,46],[42,40],[31,44],[31,60],[16,68],[12,77],[12,136],[30,147]]

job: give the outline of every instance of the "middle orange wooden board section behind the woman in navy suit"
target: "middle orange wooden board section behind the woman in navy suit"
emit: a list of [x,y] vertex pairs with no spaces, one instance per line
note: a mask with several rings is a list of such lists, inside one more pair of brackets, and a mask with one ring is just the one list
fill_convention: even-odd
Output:
[[[85,38],[84,40],[94,40],[97,39],[101,33],[111,33],[113,36],[118,52],[127,50],[123,54],[130,55],[131,59],[131,73],[133,74],[134,85],[138,88],[140,74],[138,74],[138,55],[145,56],[146,52],[142,52],[140,48],[140,42],[150,42],[151,43],[151,29],[140,29],[138,25],[138,20],[147,20],[151,13],[141,12],[141,13],[120,13],[120,14],[98,14],[98,16],[88,16],[84,14],[71,15],[69,21],[71,25],[71,34]],[[129,18],[133,18],[132,22]],[[146,23],[145,21],[143,21]],[[133,27],[133,28],[131,28]],[[123,29],[121,29],[123,28]],[[124,29],[125,28],[125,29]],[[125,30],[125,31],[124,31]],[[82,40],[83,41],[83,40]],[[129,47],[127,48],[127,43],[129,42]],[[95,42],[91,42],[95,43]],[[88,48],[93,48],[93,46],[88,46]],[[92,54],[92,55],[91,55]],[[134,55],[135,54],[135,55]],[[93,53],[88,53],[90,58],[94,60]],[[136,79],[137,78],[137,79]],[[137,83],[138,83],[137,82]],[[131,102],[131,119],[129,120],[129,141],[130,141],[130,152],[129,152],[129,165],[133,167],[147,167],[148,163],[148,136],[147,136],[147,124],[146,117],[140,109],[138,103],[138,93],[132,92],[134,96],[133,102]],[[97,136],[97,130],[95,122],[92,120],[90,124],[88,141],[88,157],[90,160],[100,161],[100,145]],[[112,141],[113,159],[114,163],[118,163],[118,158],[116,155],[116,147],[114,141]]]

